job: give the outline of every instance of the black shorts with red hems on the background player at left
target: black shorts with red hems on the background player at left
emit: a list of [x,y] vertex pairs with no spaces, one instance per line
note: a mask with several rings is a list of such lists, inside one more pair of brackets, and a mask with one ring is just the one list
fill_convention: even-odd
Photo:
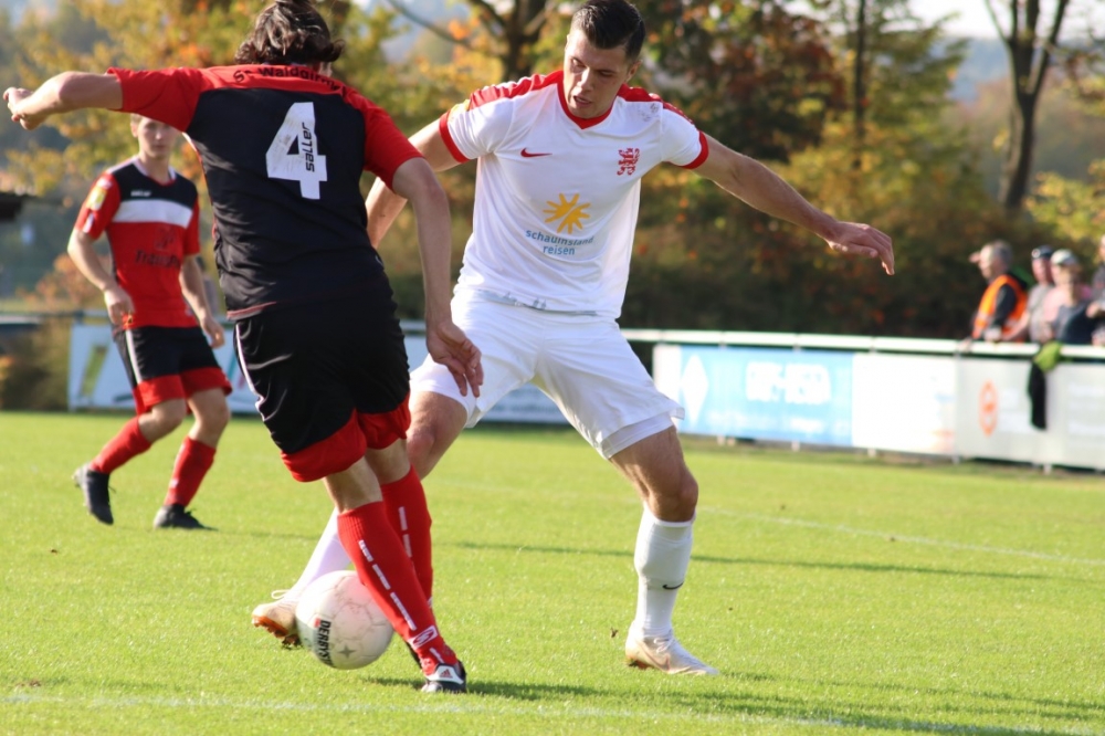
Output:
[[199,327],[135,327],[115,333],[115,347],[130,380],[139,414],[170,399],[218,388],[231,392],[207,336]]

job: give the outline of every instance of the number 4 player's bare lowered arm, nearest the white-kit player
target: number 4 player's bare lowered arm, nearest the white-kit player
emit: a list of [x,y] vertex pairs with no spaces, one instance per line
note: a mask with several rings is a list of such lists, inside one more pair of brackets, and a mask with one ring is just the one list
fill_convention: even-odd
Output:
[[392,179],[394,193],[410,200],[418,228],[419,253],[422,256],[422,281],[425,284],[425,343],[430,356],[449,368],[461,393],[469,389],[480,396],[483,367],[480,349],[464,332],[453,324],[450,298],[452,278],[452,227],[449,199],[425,159],[404,161]]

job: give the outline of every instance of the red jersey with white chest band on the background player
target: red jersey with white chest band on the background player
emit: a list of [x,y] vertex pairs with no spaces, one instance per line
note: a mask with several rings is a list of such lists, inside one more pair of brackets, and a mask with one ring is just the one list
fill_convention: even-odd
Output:
[[81,207],[76,228],[93,240],[107,233],[112,271],[135,311],[123,326],[194,327],[180,287],[185,256],[200,252],[196,185],[170,169],[161,183],[131,158],[101,175]]

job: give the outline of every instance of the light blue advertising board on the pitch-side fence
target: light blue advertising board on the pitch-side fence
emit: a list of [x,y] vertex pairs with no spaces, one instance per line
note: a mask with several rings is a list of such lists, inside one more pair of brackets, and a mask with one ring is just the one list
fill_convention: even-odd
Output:
[[681,432],[852,443],[852,354],[684,345],[678,364]]

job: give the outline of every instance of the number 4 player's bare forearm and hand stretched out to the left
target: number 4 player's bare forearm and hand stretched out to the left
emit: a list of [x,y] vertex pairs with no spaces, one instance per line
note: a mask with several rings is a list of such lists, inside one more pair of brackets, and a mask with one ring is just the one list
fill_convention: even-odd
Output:
[[123,85],[114,74],[62,72],[43,82],[38,90],[8,87],[3,98],[12,122],[33,130],[59,113],[85,107],[119,109],[123,107]]

